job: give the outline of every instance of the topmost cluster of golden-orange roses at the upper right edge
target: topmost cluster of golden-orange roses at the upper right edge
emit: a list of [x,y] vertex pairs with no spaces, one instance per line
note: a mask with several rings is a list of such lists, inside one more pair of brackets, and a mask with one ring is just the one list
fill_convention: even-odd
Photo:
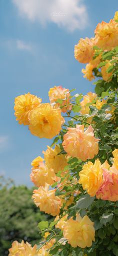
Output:
[[[80,39],[78,44],[74,47],[74,57],[80,63],[87,64],[85,69],[81,72],[84,74],[84,78],[91,81],[94,79],[93,69],[98,66],[101,61],[101,54],[94,60],[95,54],[94,47],[100,48],[103,52],[110,51],[118,45],[118,26],[117,26],[117,12],[114,15],[113,20],[109,23],[101,22],[96,26],[94,31],[94,38]],[[108,61],[103,67],[101,67],[101,75],[104,81],[110,81],[112,72],[107,73],[107,69],[110,67],[110,61]]]

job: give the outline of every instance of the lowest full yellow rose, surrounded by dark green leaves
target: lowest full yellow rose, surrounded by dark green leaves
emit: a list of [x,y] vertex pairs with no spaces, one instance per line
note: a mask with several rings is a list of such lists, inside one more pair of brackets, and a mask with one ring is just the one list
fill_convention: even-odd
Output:
[[93,224],[88,216],[81,218],[79,214],[76,214],[76,220],[71,217],[64,224],[63,236],[72,247],[90,247],[92,241],[95,240]]

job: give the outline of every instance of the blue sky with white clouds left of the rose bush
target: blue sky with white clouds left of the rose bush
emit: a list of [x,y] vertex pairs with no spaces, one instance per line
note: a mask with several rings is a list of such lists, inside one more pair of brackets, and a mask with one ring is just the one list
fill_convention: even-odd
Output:
[[14,98],[30,92],[48,102],[54,85],[94,91],[74,59],[74,44],[92,37],[116,9],[117,0],[0,0],[0,174],[31,185],[30,162],[51,143],[18,125]]

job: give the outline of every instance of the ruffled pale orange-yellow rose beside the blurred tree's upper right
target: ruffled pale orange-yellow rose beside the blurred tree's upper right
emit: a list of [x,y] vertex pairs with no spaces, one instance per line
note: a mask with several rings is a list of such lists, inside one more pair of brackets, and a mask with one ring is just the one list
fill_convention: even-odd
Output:
[[51,214],[52,216],[58,215],[61,207],[61,200],[55,196],[55,189],[48,190],[49,185],[45,183],[45,187],[39,187],[33,190],[32,198],[40,211]]

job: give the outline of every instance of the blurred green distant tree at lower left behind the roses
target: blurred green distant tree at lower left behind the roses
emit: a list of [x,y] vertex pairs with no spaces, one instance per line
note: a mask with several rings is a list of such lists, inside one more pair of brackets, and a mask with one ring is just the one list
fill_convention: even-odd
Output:
[[32,245],[40,239],[37,224],[48,219],[34,205],[31,195],[33,188],[15,186],[0,179],[0,256],[8,255],[13,240],[27,240]]

